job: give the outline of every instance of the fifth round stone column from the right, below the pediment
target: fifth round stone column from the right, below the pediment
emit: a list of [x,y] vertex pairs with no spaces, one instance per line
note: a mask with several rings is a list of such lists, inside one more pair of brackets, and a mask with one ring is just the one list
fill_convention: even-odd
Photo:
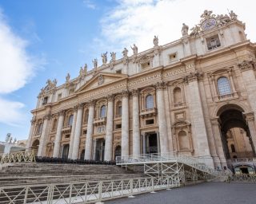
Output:
[[94,101],[90,101],[89,116],[88,116],[88,123],[87,123],[85,159],[91,159],[93,133],[94,133]]

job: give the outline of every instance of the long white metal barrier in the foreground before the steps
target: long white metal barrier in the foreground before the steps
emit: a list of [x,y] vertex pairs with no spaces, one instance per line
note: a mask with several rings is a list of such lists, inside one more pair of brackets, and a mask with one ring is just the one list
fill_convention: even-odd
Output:
[[0,187],[0,203],[94,203],[178,187],[178,178],[139,178]]

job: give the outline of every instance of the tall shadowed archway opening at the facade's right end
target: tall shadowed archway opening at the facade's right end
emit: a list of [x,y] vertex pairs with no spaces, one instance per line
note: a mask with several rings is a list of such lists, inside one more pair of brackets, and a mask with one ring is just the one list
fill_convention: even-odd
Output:
[[255,156],[250,130],[242,112],[242,108],[234,104],[227,104],[218,111],[222,147],[226,159]]

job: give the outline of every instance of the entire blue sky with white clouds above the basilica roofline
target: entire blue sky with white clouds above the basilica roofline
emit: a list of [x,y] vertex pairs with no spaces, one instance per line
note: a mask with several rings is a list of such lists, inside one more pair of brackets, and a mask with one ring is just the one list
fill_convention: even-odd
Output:
[[[80,66],[101,53],[138,45],[139,52],[177,40],[182,22],[193,27],[203,10],[234,10],[255,41],[255,12],[242,1],[203,0],[0,0],[0,140],[26,139],[30,111],[50,78],[77,77]],[[1,59],[2,58],[2,59]]]

